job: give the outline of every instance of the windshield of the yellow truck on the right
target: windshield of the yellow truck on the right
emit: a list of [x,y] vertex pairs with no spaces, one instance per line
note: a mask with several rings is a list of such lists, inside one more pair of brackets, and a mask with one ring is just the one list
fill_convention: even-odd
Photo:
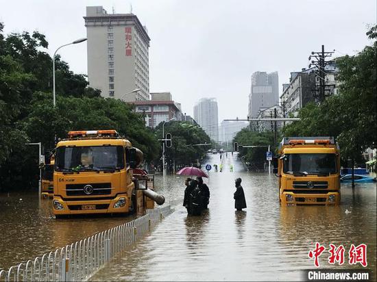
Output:
[[335,154],[288,154],[283,158],[283,172],[292,175],[328,175],[337,172]]

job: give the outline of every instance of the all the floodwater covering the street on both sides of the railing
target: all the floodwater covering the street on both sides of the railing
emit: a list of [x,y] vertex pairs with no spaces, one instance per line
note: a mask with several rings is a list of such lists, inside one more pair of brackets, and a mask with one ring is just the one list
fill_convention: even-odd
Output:
[[[219,164],[219,154],[208,164]],[[230,164],[234,172],[230,172]],[[234,210],[234,179],[241,177],[247,208]],[[367,244],[368,269],[376,268],[376,184],[341,188],[337,207],[280,207],[278,179],[268,173],[245,172],[228,153],[223,172],[210,172],[209,209],[187,216],[177,206],[145,238],[112,259],[93,281],[245,281],[302,280],[314,268],[308,251],[315,242],[326,246],[321,268],[362,268],[348,264],[351,244]],[[156,187],[167,201],[182,198],[184,177],[156,176]],[[22,198],[22,200],[20,199]],[[125,218],[56,220],[51,201],[36,194],[0,194],[0,268],[120,225]],[[345,213],[345,210],[351,211]],[[328,264],[329,244],[345,246],[345,264]],[[373,272],[376,280],[376,272]]]

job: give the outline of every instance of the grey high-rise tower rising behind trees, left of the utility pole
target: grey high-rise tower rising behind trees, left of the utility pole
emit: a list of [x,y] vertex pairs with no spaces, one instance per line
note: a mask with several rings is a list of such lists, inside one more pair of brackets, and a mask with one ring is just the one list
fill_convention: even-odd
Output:
[[257,71],[252,74],[252,87],[249,95],[249,116],[256,118],[260,107],[271,107],[279,101],[278,72]]

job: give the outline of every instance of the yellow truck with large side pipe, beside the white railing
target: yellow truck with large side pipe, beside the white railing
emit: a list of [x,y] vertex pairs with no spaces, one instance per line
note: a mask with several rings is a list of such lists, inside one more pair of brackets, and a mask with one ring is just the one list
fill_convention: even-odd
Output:
[[165,198],[154,179],[135,174],[143,153],[115,130],[69,131],[58,142],[53,172],[53,214],[143,213]]

